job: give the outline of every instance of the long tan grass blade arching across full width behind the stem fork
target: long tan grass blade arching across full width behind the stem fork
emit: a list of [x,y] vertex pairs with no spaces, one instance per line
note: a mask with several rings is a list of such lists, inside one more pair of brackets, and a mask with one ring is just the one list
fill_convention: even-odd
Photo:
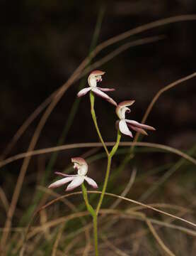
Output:
[[[106,146],[113,146],[114,144],[115,144],[115,142],[105,142]],[[10,164],[13,161],[16,161],[18,159],[23,159],[28,156],[48,154],[48,153],[52,153],[54,151],[63,151],[63,150],[67,150],[67,149],[100,147],[100,146],[102,146],[102,144],[100,142],[86,142],[86,143],[77,143],[77,144],[67,144],[67,145],[62,145],[62,146],[53,146],[53,147],[47,148],[47,149],[38,149],[35,151],[28,151],[25,153],[17,154],[16,156],[11,156],[8,159],[1,161],[0,168],[5,166],[6,164]],[[120,142],[120,146],[146,146],[146,147],[151,147],[151,148],[155,148],[155,149],[162,149],[163,151],[168,151],[173,154],[177,154],[178,156],[182,156],[184,159],[192,162],[192,164],[196,164],[196,159],[194,159],[192,156],[189,156],[188,154],[183,153],[183,151],[180,151],[179,149],[174,149],[171,146],[166,146],[163,144],[156,144],[156,143],[149,143],[149,142]]]

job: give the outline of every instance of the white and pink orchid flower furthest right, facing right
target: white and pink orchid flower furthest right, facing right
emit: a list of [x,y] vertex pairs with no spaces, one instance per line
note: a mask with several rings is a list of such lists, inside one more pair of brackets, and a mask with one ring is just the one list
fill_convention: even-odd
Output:
[[117,121],[117,127],[119,127],[122,134],[128,135],[129,137],[133,137],[132,132],[129,130],[129,128],[133,129],[135,132],[148,135],[144,129],[154,131],[154,127],[150,127],[146,124],[140,124],[139,122],[134,120],[125,119],[125,113],[131,112],[128,106],[131,106],[132,104],[134,104],[134,100],[127,100],[117,105],[116,114],[120,118],[120,120]]

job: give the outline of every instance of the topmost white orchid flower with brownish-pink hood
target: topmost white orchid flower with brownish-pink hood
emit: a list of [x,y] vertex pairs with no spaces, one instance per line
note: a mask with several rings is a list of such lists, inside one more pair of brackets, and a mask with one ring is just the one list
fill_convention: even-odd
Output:
[[107,100],[108,102],[112,103],[113,105],[117,106],[117,103],[109,97],[105,92],[114,91],[113,88],[101,88],[97,86],[97,82],[102,81],[102,75],[104,75],[105,72],[100,70],[94,70],[91,72],[91,74],[88,76],[88,85],[89,87],[83,88],[80,90],[77,94],[78,97],[81,97],[83,95],[86,95],[87,92],[94,92],[96,95],[103,97],[103,99]]

